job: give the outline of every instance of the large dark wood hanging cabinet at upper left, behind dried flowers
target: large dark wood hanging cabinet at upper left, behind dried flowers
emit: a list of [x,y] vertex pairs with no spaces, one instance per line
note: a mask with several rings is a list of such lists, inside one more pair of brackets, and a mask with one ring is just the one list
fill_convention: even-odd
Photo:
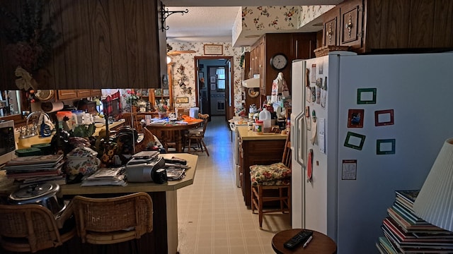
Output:
[[[13,2],[13,3],[10,3]],[[0,0],[20,11],[25,0]],[[158,0],[46,1],[62,33],[39,89],[161,87],[166,74],[166,32]],[[1,20],[4,21],[4,20]],[[8,22],[0,22],[8,25]],[[0,24],[1,27],[1,24]],[[0,42],[4,49],[6,42]],[[11,61],[1,57],[0,87],[16,88]],[[17,89],[17,88],[16,88]]]

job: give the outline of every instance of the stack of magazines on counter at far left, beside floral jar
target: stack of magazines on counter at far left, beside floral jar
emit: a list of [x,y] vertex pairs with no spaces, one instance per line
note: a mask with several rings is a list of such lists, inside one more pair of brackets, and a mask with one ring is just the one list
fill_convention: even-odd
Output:
[[63,155],[35,155],[17,157],[5,164],[6,177],[14,179],[22,188],[43,182],[66,183]]

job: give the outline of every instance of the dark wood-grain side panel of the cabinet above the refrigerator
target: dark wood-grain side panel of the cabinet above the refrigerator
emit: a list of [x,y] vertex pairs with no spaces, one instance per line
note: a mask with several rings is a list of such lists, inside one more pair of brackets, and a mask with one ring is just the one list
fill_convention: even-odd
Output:
[[365,0],[365,51],[453,47],[453,1]]

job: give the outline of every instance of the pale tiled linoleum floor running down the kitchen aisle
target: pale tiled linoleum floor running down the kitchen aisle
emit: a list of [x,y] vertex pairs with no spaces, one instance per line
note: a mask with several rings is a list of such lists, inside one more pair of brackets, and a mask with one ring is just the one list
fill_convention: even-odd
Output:
[[178,190],[179,253],[275,253],[272,238],[291,228],[289,214],[265,214],[260,230],[258,214],[247,209],[236,186],[231,131],[224,116],[212,117],[205,143],[210,157],[195,152],[195,181]]

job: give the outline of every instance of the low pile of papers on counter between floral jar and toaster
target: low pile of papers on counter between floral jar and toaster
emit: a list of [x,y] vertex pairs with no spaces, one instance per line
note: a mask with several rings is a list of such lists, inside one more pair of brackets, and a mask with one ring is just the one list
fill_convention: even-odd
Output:
[[126,186],[125,167],[101,168],[82,181],[81,186]]

